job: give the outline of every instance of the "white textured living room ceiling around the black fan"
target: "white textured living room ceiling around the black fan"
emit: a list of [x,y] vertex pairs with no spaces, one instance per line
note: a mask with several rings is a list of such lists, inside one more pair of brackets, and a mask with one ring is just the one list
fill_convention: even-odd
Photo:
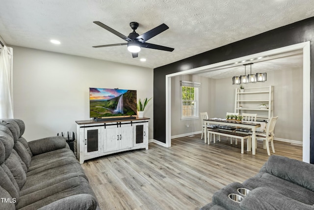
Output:
[[[312,16],[313,0],[1,0],[0,36],[8,45],[155,68]],[[93,21],[124,35],[132,21],[139,34],[165,23],[148,42],[175,50],[144,48],[133,59],[126,45],[92,48],[125,42]]]

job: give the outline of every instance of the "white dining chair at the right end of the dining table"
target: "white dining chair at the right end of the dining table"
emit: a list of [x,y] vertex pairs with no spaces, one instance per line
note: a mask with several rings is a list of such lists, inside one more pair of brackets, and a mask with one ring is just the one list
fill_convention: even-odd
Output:
[[[278,116],[277,117],[271,117],[269,122],[267,123],[267,128],[266,132],[261,132],[261,131],[256,131],[256,143],[257,139],[262,139],[263,140],[263,149],[267,149],[267,154],[270,155],[269,151],[269,142],[271,144],[271,149],[273,150],[273,153],[275,153],[275,148],[274,148],[274,129],[275,129],[275,124],[277,122]],[[252,134],[252,132],[250,132]],[[257,145],[257,144],[255,144]]]

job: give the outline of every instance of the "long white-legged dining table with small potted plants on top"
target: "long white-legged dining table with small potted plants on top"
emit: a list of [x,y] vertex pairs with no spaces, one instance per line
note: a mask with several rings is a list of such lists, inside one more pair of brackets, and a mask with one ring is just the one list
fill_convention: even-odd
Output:
[[[218,124],[218,125],[230,125],[242,128],[251,128],[252,129],[252,154],[255,155],[256,152],[256,129],[261,127],[261,123],[259,122],[248,122],[241,120],[225,120],[225,119],[204,119],[207,124]],[[207,126],[204,128],[204,137],[205,141],[207,140]],[[206,143],[206,142],[205,142]]]

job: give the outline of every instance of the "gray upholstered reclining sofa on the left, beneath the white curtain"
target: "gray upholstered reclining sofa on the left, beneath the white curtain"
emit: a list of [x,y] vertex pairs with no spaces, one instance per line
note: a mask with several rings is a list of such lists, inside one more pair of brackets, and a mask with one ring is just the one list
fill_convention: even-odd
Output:
[[0,210],[100,209],[63,137],[27,142],[22,120],[0,120]]

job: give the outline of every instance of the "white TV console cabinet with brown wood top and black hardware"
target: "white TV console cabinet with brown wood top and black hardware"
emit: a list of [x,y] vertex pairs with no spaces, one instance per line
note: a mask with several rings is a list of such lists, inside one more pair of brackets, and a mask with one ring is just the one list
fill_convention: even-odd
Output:
[[76,121],[79,163],[120,151],[148,150],[148,120]]

